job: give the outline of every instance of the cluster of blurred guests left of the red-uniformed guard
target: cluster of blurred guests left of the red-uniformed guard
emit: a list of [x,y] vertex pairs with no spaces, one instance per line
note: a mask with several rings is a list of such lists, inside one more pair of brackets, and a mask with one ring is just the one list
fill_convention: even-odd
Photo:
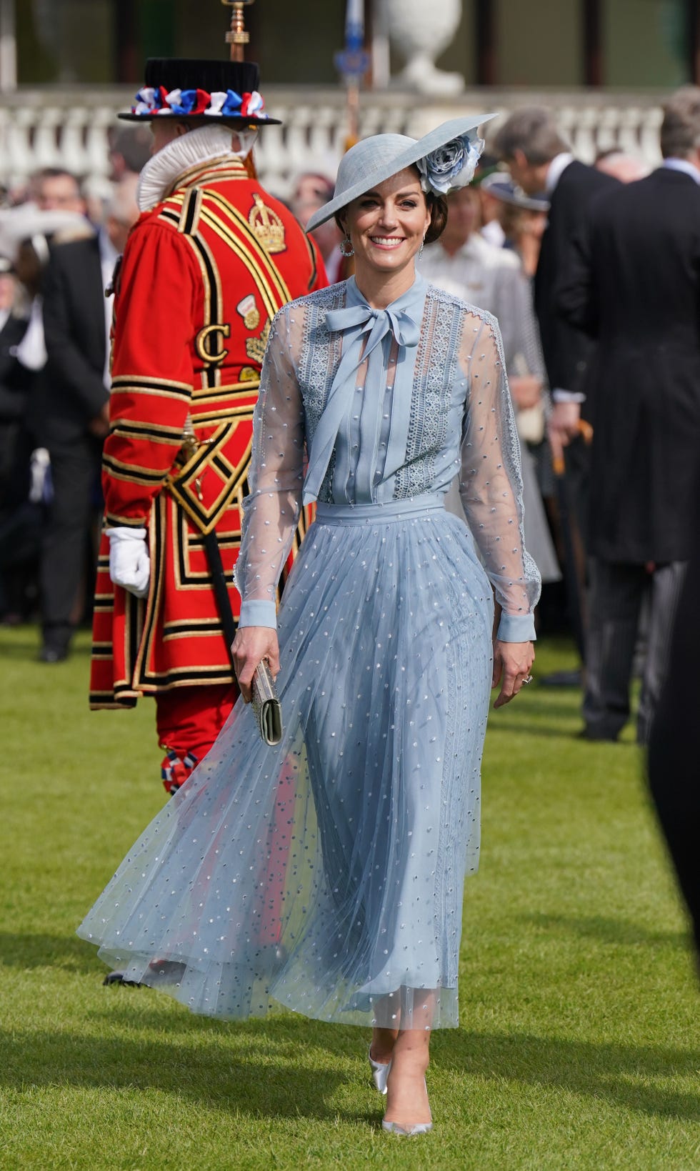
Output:
[[110,282],[149,153],[147,131],[119,131],[109,189],[49,167],[0,206],[0,619],[40,618],[44,663],[90,612]]

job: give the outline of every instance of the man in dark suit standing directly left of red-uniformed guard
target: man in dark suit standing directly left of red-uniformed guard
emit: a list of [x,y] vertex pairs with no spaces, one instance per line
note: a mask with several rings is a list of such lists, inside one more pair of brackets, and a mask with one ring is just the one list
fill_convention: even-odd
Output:
[[114,267],[138,211],[136,178],[116,189],[96,235],[56,245],[43,283],[47,364],[33,403],[36,438],[52,460],[53,500],[41,556],[43,645],[69,649],[108,431],[109,322]]

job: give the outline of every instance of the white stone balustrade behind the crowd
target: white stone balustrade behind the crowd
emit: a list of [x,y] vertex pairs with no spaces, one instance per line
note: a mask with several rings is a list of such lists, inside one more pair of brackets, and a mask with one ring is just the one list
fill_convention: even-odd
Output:
[[[131,89],[20,89],[0,95],[0,180],[19,186],[40,167],[61,165],[103,185],[109,176],[108,130],[117,125],[116,112],[126,109],[131,98]],[[260,132],[255,158],[265,185],[284,197],[300,171],[330,172],[341,158],[348,132],[344,91],[268,87],[266,101],[284,125]],[[597,150],[613,146],[644,158],[650,166],[659,160],[661,112],[654,95],[482,89],[431,101],[400,89],[365,91],[361,133],[419,136],[460,112],[499,110],[505,116],[526,103],[551,105],[584,162],[591,162]]]

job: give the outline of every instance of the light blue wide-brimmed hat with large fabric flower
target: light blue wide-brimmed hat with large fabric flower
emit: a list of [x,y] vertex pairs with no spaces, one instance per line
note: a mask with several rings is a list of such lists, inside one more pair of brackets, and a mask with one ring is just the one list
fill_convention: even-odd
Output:
[[447,194],[455,187],[466,186],[483,149],[476,131],[495,117],[495,114],[480,114],[449,118],[423,138],[409,138],[407,135],[363,138],[343,155],[334,197],[314,212],[307,232],[407,166],[418,166],[424,191]]

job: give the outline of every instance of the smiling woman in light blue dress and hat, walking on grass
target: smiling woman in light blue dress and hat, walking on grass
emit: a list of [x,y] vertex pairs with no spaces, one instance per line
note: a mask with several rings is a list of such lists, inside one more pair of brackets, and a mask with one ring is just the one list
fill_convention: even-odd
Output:
[[[337,214],[356,274],[274,321],[236,568],[239,683],[247,699],[262,659],[279,672],[282,739],[265,744],[239,704],[81,927],[195,1012],[371,1026],[399,1135],[430,1130],[431,1030],[459,1022],[492,674],[497,707],[534,658],[497,326],[414,269],[442,193],[473,172],[475,128],[358,143],[309,222]],[[458,468],[471,532],[442,504]]]

